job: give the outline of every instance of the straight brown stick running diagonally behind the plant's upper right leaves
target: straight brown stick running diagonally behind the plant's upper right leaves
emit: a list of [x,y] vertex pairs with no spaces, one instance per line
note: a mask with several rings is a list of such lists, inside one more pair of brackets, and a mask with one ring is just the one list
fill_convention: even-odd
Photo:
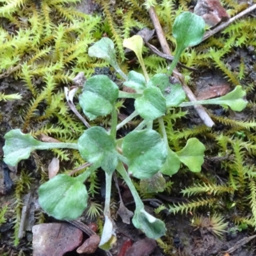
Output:
[[[157,18],[156,10],[154,7],[150,7],[149,15],[152,20],[152,23],[154,24],[154,28],[156,29],[157,37],[161,44],[164,54],[168,54],[168,55],[172,56],[172,53],[167,44],[166,38],[163,33],[163,29],[161,28],[161,25]],[[196,97],[195,97],[194,93],[190,90],[188,85],[185,83],[184,76],[182,76],[182,74],[180,74],[180,72],[177,70],[177,68],[175,68],[173,70],[173,76],[180,80],[180,82],[182,83],[182,88],[186,92],[186,95],[188,96],[189,100],[196,101]],[[214,122],[212,121],[211,117],[207,114],[207,112],[205,111],[203,106],[198,105],[198,106],[194,106],[194,108],[195,108],[196,112],[198,113],[198,115],[200,116],[200,118],[203,120],[205,125],[207,125],[208,127],[212,127],[212,125],[214,125]]]

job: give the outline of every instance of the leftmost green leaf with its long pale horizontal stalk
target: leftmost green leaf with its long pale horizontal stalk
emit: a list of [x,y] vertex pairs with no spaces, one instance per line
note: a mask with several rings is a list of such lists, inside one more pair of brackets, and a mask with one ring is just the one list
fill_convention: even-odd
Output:
[[77,148],[76,143],[45,143],[35,140],[31,135],[22,133],[20,129],[7,132],[4,139],[4,162],[10,166],[16,166],[20,160],[28,159],[31,152],[36,149]]

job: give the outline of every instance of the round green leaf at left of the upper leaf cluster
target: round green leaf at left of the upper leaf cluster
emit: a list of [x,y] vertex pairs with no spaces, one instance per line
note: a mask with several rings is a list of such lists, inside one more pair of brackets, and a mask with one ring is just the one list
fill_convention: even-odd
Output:
[[111,113],[118,98],[118,86],[108,76],[93,76],[84,84],[79,103],[90,120]]

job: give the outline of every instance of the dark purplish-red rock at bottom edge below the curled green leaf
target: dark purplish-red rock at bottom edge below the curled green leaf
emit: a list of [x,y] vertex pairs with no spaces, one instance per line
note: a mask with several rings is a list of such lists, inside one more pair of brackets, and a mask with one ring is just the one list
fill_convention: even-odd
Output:
[[125,256],[148,256],[150,253],[154,252],[155,248],[156,241],[145,237],[132,244],[132,246],[127,249]]

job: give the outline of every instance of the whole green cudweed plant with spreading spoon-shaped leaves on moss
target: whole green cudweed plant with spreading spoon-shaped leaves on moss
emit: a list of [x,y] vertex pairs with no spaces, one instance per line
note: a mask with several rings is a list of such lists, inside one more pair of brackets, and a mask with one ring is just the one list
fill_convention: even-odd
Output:
[[[90,47],[88,53],[92,57],[102,58],[115,68],[124,79],[125,86],[134,89],[134,93],[122,92],[108,76],[97,75],[88,79],[83,92],[79,95],[79,104],[89,120],[98,116],[111,114],[111,129],[102,127],[86,129],[77,143],[45,143],[35,140],[19,129],[8,132],[4,138],[4,161],[15,166],[22,159],[27,159],[33,150],[50,148],[73,148],[79,150],[81,157],[92,165],[77,177],[59,174],[42,184],[39,188],[39,203],[47,214],[58,220],[75,220],[87,207],[88,193],[84,182],[90,175],[102,168],[106,173],[106,200],[104,207],[105,224],[100,241],[100,248],[108,250],[115,241],[115,227],[109,209],[111,197],[111,181],[115,171],[120,173],[131,189],[136,209],[134,214],[128,209],[126,214],[132,216],[136,228],[145,232],[146,236],[157,239],[164,236],[164,222],[145,211],[130,175],[137,179],[161,179],[162,175],[173,175],[178,172],[180,164],[188,166],[191,172],[200,172],[204,163],[204,145],[196,138],[190,138],[186,146],[179,152],[173,152],[168,145],[163,116],[168,109],[193,106],[195,104],[220,104],[229,106],[234,111],[241,111],[246,106],[243,99],[246,94],[241,86],[218,99],[187,102],[186,95],[179,81],[171,77],[180,54],[188,46],[196,45],[204,35],[204,20],[192,13],[184,12],[175,20],[173,36],[177,40],[175,60],[167,74],[155,74],[149,77],[143,63],[141,36],[132,36],[124,40],[124,47],[135,52],[143,70],[143,74],[135,71],[124,74],[116,61],[114,44],[109,38],[102,38]],[[76,89],[68,92],[66,97],[72,102]],[[117,122],[115,102],[118,98],[135,99],[135,111],[120,124]],[[140,115],[143,121],[124,138],[116,140],[116,131],[121,129],[132,118]],[[154,120],[161,127],[161,134],[152,129]],[[128,166],[128,172],[124,168]],[[162,177],[163,178],[163,177]],[[124,206],[124,205],[122,205]]]

